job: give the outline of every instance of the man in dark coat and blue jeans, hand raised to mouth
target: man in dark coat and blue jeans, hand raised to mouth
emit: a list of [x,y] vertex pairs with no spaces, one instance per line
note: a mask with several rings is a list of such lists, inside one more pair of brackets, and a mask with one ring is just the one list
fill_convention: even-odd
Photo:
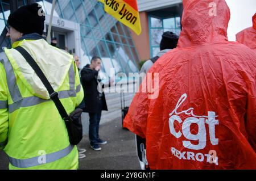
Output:
[[105,94],[103,91],[98,91],[98,71],[100,71],[101,58],[92,57],[91,64],[87,64],[81,71],[81,82],[84,89],[84,112],[89,113],[89,140],[90,146],[94,150],[101,150],[98,144],[106,144],[107,142],[101,140],[98,129],[100,127],[101,111],[108,111],[106,105]]

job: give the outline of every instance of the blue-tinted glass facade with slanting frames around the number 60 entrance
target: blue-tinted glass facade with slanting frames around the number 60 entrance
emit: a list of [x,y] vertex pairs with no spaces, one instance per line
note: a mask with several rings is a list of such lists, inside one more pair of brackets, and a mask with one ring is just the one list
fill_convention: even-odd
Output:
[[[51,14],[52,1],[35,1],[42,5],[47,15]],[[18,6],[26,5],[27,1],[16,1]],[[10,1],[0,0],[0,46],[10,47],[6,35],[6,22],[10,14]],[[110,75],[110,68],[115,74],[119,72],[138,72],[139,57],[135,49],[130,30],[119,23],[111,15],[106,14],[104,5],[97,0],[56,0],[53,16],[78,23],[80,26],[80,62],[89,64],[92,56],[102,58],[102,71]],[[47,31],[47,30],[46,30]],[[59,36],[59,47],[65,48],[65,41]],[[74,53],[75,51],[71,53]]]

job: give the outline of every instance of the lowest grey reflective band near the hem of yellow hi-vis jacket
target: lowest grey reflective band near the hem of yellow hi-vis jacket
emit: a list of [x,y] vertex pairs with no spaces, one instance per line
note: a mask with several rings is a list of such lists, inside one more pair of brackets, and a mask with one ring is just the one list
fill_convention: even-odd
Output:
[[[61,159],[65,156],[67,156],[69,153],[71,153],[73,147],[74,147],[73,145],[69,145],[67,148],[60,150],[60,151],[56,151],[55,153],[40,155],[38,157],[33,157],[33,158],[28,158],[28,159],[16,159],[16,158],[12,158],[9,156],[8,156],[8,158],[9,158],[11,165],[13,165],[15,167],[28,168],[28,167],[33,167],[33,166],[44,165],[46,163],[55,162],[58,159]],[[42,158],[45,158],[45,162],[42,161]]]

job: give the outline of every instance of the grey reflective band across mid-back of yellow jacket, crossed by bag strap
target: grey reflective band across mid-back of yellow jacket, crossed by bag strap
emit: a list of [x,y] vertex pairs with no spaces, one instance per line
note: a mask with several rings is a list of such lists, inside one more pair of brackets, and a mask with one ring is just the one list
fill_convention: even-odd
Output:
[[[75,90],[65,90],[65,91],[59,91],[59,98],[60,99],[65,99],[69,97],[75,97],[76,96],[76,91]],[[28,98],[23,98],[22,100],[19,100],[18,102],[15,102],[13,104],[9,105],[9,113],[12,113],[16,110],[18,110],[21,107],[30,107],[30,106],[35,106],[40,103],[48,102],[51,99],[41,99],[37,96],[31,96]]]

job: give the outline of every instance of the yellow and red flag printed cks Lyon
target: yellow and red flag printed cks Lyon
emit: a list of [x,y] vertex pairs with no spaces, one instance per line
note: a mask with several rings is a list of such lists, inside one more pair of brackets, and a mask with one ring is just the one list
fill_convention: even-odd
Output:
[[141,20],[136,0],[98,0],[104,3],[104,10],[119,22],[141,34]]

